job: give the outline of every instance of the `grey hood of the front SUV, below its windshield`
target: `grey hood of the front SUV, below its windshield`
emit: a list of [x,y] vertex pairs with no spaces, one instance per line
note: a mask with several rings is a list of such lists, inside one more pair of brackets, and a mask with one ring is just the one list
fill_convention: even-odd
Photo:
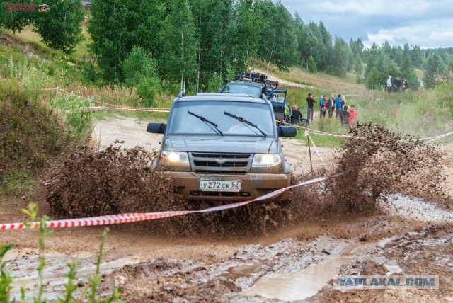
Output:
[[163,150],[222,152],[222,153],[279,153],[281,147],[275,137],[246,136],[171,136],[162,142]]

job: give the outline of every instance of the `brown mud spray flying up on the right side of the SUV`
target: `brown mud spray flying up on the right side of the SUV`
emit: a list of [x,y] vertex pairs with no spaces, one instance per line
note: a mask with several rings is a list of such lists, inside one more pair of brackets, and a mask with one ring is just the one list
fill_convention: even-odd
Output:
[[[377,198],[382,193],[448,199],[446,177],[441,173],[445,154],[440,149],[372,123],[354,125],[350,134],[360,139],[350,140],[338,151],[336,172],[345,174],[332,182],[293,190],[294,202],[300,201],[295,197],[310,201],[307,210],[312,216],[372,215],[379,212]],[[296,181],[303,180],[306,176]]]

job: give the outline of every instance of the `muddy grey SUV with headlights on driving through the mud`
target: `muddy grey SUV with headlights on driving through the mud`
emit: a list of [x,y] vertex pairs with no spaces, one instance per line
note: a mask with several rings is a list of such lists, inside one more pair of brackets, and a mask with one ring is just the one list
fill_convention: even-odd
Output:
[[[250,200],[288,186],[291,167],[280,137],[294,127],[277,127],[270,101],[246,95],[205,93],[173,101],[161,133],[154,166],[164,171],[177,193],[189,200]],[[284,200],[287,193],[276,200]]]

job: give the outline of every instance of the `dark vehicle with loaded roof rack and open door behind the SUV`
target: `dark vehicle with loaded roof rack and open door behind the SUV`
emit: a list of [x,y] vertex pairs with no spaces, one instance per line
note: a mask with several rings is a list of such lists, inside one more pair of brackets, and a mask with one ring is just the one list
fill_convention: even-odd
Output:
[[254,98],[267,98],[273,106],[275,120],[286,120],[286,89],[278,89],[278,81],[270,81],[268,76],[257,72],[248,72],[234,76],[233,81],[224,80],[219,93],[245,93]]

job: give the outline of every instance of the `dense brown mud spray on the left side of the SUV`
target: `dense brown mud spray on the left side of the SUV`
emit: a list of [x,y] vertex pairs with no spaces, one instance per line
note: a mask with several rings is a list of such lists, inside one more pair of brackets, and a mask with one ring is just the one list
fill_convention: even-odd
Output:
[[57,218],[171,210],[171,183],[149,168],[141,147],[81,149],[60,156],[47,173],[47,202]]

